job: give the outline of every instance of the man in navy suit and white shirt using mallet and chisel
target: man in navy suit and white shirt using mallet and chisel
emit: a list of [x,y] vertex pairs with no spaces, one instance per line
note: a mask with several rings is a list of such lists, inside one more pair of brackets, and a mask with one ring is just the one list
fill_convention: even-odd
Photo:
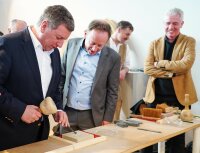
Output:
[[[65,39],[74,30],[71,13],[61,5],[49,6],[37,26],[0,38],[0,150],[48,138],[48,116],[40,102],[47,96],[62,109],[58,84],[60,54]],[[68,126],[59,110],[55,121]]]

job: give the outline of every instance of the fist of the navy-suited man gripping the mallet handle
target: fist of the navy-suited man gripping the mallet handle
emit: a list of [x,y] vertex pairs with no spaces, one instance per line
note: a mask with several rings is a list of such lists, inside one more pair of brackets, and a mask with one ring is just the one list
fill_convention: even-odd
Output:
[[38,121],[42,117],[42,114],[40,112],[40,108],[34,105],[27,105],[26,109],[21,117],[21,120],[25,123],[33,123],[35,121]]

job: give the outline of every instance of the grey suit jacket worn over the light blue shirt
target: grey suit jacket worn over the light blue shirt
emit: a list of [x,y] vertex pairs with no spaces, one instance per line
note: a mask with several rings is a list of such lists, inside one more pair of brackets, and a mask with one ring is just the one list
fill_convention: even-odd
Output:
[[[63,106],[67,104],[68,87],[72,71],[83,38],[68,41],[62,60],[62,77],[60,89],[63,90]],[[100,126],[103,120],[112,121],[115,112],[119,86],[120,56],[111,48],[101,50],[94,83],[91,92],[91,105],[94,123]]]

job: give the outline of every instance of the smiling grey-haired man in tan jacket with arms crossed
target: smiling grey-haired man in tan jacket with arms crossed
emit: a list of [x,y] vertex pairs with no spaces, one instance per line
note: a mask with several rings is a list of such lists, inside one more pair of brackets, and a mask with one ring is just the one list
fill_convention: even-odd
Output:
[[[150,44],[144,64],[144,72],[149,75],[144,101],[149,107],[167,103],[183,109],[184,95],[190,95],[190,104],[197,101],[191,76],[195,60],[195,39],[180,33],[184,24],[183,11],[169,10],[165,16],[165,36]],[[169,153],[185,153],[184,134],[167,141]],[[152,153],[152,147],[145,148]]]

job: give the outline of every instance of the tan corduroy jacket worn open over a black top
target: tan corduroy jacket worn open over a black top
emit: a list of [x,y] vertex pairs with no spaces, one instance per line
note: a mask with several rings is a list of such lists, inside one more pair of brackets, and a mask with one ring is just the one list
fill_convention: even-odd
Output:
[[[190,95],[190,104],[195,103],[197,94],[192,80],[191,68],[195,60],[195,39],[180,34],[174,46],[172,59],[163,60],[165,37],[150,44],[144,63],[144,73],[149,75],[144,101],[152,103],[155,99],[154,81],[156,78],[172,77],[174,90],[178,101],[184,105],[185,94]],[[157,65],[155,65],[157,62]]]

